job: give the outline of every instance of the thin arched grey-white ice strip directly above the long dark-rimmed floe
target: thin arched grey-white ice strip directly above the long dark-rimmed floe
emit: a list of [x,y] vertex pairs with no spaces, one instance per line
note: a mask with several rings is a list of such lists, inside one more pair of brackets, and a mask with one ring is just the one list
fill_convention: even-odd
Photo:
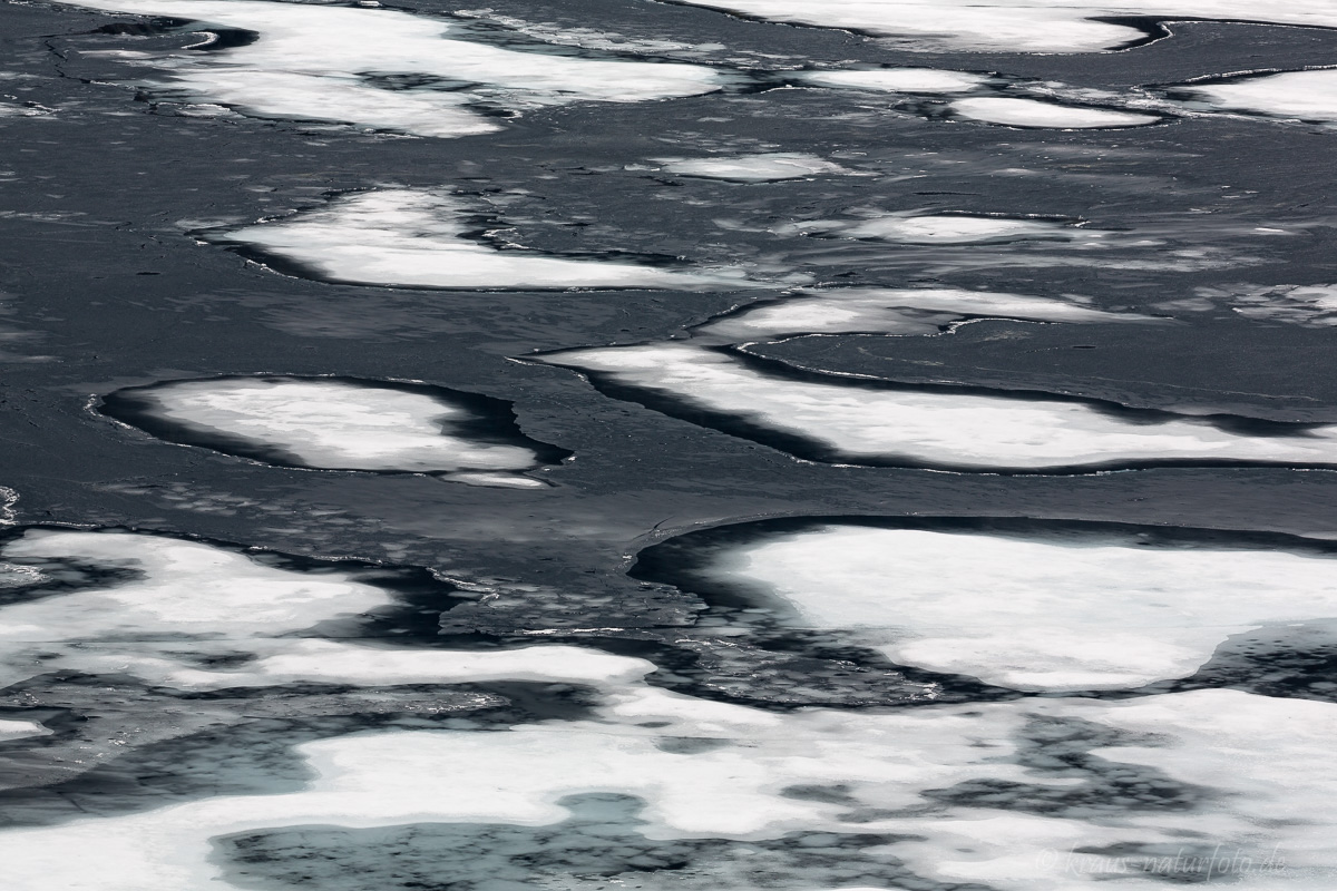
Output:
[[937,334],[967,318],[1036,322],[1152,322],[1079,302],[957,289],[850,287],[805,291],[778,303],[745,307],[693,331],[713,342],[796,334]]

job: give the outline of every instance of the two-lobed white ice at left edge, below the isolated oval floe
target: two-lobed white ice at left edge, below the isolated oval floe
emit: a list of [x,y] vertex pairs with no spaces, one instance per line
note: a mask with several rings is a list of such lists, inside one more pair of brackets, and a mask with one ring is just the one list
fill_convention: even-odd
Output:
[[[29,530],[0,558],[79,560],[142,577],[0,606],[0,687],[53,671],[131,675],[179,689],[295,681],[360,685],[483,680],[623,683],[654,671],[639,659],[564,645],[505,651],[404,651],[283,637],[392,606],[348,572],[302,573],[197,541],[135,533]],[[56,641],[56,643],[53,643]],[[37,655],[44,655],[41,660]],[[249,656],[199,668],[210,656]]]

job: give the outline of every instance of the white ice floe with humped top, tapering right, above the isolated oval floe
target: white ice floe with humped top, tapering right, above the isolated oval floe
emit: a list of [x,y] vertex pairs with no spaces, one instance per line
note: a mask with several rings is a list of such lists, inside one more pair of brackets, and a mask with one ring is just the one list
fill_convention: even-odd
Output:
[[624,262],[500,250],[469,238],[463,203],[437,192],[386,188],[334,199],[295,216],[206,234],[285,271],[329,282],[468,290],[755,287],[742,273],[677,271]]

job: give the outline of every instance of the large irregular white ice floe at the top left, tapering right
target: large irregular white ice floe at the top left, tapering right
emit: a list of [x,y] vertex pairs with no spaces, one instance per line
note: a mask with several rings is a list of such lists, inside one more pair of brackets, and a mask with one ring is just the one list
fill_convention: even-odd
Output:
[[257,118],[349,123],[420,136],[499,130],[479,107],[523,111],[572,102],[644,102],[718,90],[711,68],[591,60],[475,43],[449,20],[390,9],[263,0],[70,0],[259,33],[227,49],[142,56],[151,87]]

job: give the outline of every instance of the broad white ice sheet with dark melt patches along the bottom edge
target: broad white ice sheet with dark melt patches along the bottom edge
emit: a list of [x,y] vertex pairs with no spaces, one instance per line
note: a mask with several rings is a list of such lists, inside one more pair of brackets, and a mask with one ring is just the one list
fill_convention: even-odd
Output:
[[[1098,740],[1118,740],[1094,753],[1122,767],[1123,777],[1136,779],[1140,768],[1147,781],[1202,793],[1179,808],[1152,808],[1136,792],[1100,785],[1096,771],[1056,775],[1027,768],[1020,745],[1036,720],[1071,728],[1074,752],[1088,751]],[[1284,850],[1286,883],[1277,884],[1271,872],[1237,870],[1230,878],[1239,884],[1233,887],[1326,891],[1337,860],[1334,733],[1337,705],[1330,703],[1223,689],[1122,701],[969,703],[877,715],[770,713],[624,688],[610,691],[596,720],[544,721],[503,732],[370,732],[306,743],[297,751],[316,779],[301,791],[218,796],[11,830],[0,832],[0,858],[13,891],[229,888],[238,886],[211,856],[211,839],[225,835],[299,826],[554,827],[568,816],[556,804],[562,797],[615,792],[646,801],[647,839],[885,834],[898,836],[886,843],[885,854],[913,872],[1000,891],[1108,884],[1107,871],[1072,870],[1062,856],[1070,851],[1169,847],[1197,854],[1213,846],[1258,860]],[[675,753],[656,745],[664,736],[714,739],[717,745]],[[999,792],[985,806],[925,795],[969,783]],[[1083,783],[1102,796],[1104,819],[1090,819],[1088,808],[1055,810],[1052,816],[1024,810],[1028,795],[1060,799],[1066,787]],[[848,800],[785,793],[801,785],[842,787]],[[1015,789],[1015,797],[1009,800],[1005,789]],[[850,823],[845,816],[852,808],[885,816]],[[812,888],[838,887],[825,870],[805,878],[816,879]],[[1119,878],[1120,887],[1152,891],[1165,887],[1166,876]]]

